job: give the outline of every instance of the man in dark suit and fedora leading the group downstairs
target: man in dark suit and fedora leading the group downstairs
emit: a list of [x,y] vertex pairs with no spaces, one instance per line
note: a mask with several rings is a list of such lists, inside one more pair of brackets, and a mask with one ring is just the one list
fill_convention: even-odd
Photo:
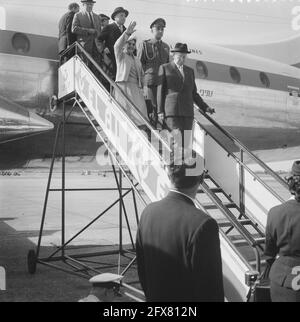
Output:
[[171,50],[174,61],[160,66],[157,89],[157,110],[159,121],[172,132],[179,130],[191,142],[194,120],[194,103],[205,113],[214,113],[197,93],[195,74],[185,66],[187,44],[177,43]]

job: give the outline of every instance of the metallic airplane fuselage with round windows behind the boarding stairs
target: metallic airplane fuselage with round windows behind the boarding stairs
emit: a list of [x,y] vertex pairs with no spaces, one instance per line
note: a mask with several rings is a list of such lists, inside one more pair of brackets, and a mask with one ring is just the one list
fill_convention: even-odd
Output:
[[[255,61],[250,67],[247,64],[243,67],[241,61],[248,57],[239,58],[238,53],[226,50],[227,56],[237,55],[236,64],[228,65],[220,47],[216,47],[217,54],[212,58],[211,47],[207,52],[202,44],[192,44],[191,48],[187,65],[195,71],[198,92],[216,109],[217,122],[252,150],[300,145],[300,76],[296,68],[286,65],[285,71],[285,65],[281,65],[280,72],[272,72],[270,63],[270,71],[262,71],[259,64],[264,62],[257,63],[255,69]],[[55,37],[0,31],[0,95],[56,125],[62,111],[59,107],[51,109],[49,102],[57,94],[58,67]],[[73,121],[85,121],[80,111],[75,111],[72,117]],[[11,158],[26,161],[50,157],[53,136],[54,131],[0,145],[1,155],[5,155],[0,168],[15,166],[17,163]],[[68,138],[71,141],[68,155],[95,155],[99,147],[88,125],[83,131],[70,127]]]

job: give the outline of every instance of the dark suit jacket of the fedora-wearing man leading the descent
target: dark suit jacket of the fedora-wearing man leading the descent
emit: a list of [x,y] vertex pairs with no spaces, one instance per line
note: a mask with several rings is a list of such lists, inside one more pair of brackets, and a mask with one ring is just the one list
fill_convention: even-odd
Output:
[[194,102],[204,112],[208,108],[197,93],[193,69],[184,66],[183,71],[184,79],[174,62],[160,66],[158,113],[164,113],[166,117],[194,117]]

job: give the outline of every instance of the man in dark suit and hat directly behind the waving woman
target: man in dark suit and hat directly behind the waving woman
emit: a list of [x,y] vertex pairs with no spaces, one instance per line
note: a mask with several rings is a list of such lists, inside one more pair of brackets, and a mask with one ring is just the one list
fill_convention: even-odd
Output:
[[105,53],[112,61],[112,75],[114,76],[114,78],[116,77],[117,72],[114,46],[116,41],[126,30],[124,24],[126,22],[128,14],[128,10],[124,9],[123,7],[116,8],[111,15],[111,19],[114,20],[114,22],[104,27],[100,33],[100,36],[98,37],[98,40],[105,42]]

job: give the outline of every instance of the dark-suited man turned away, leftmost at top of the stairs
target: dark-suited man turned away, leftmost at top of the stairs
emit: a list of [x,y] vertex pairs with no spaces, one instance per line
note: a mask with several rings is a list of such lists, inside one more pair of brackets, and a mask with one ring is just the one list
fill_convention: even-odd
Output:
[[58,28],[58,52],[61,53],[76,41],[76,35],[72,33],[72,23],[74,15],[79,11],[76,2],[69,4],[69,11],[59,20]]

